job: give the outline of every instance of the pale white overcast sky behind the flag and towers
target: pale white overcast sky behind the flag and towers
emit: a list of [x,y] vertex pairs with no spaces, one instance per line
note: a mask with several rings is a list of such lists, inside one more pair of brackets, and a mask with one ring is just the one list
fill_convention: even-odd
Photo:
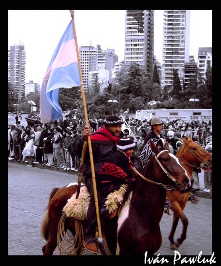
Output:
[[[154,55],[162,62],[162,10],[155,10]],[[21,41],[26,52],[26,83],[42,84],[59,40],[71,21],[68,10],[9,10],[8,48]],[[75,10],[78,47],[101,45],[115,49],[124,60],[125,10]],[[199,47],[212,47],[212,11],[191,10],[190,55]]]

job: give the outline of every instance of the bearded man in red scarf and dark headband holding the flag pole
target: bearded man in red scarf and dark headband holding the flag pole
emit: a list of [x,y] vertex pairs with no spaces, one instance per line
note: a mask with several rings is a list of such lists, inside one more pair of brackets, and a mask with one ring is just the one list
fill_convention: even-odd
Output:
[[[103,163],[106,162],[110,153],[116,151],[118,141],[123,136],[123,133],[121,132],[121,124],[124,123],[123,119],[115,115],[110,115],[104,119],[103,123],[104,127],[101,127],[99,130],[95,131],[94,133],[91,133],[90,128],[86,126],[83,129],[83,136],[79,138],[75,143],[75,149],[77,151],[77,155],[81,157],[83,142],[85,138],[87,138],[87,136],[90,134],[92,151],[93,151],[94,170],[96,176],[99,175]],[[140,170],[140,164],[138,163],[138,161],[134,161],[133,166],[137,168],[138,171]],[[85,184],[90,194],[90,204],[88,207],[88,213],[86,219],[84,245],[87,248],[87,250],[96,253],[98,251],[98,245],[94,237],[96,233],[97,218],[96,218],[96,210],[94,202],[94,191],[93,191],[90,158],[88,151],[86,152],[85,156],[83,173],[85,175]],[[107,214],[108,210],[106,208],[102,208],[101,218],[105,219]]]

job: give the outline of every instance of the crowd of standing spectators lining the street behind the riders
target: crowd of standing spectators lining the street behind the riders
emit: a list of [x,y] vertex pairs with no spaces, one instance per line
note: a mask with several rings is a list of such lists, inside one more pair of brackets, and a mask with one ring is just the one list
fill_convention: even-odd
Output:
[[[16,118],[16,117],[15,117]],[[22,126],[20,119],[15,119],[15,124],[8,126],[8,158],[9,160],[23,161],[31,167],[33,163],[63,168],[64,170],[79,170],[80,158],[74,150],[76,138],[82,134],[85,126],[84,118],[67,116],[46,124],[36,124],[34,128]],[[126,135],[133,136],[137,144],[135,155],[138,157],[143,146],[144,139],[151,131],[150,120],[125,118],[128,128]],[[103,119],[93,118],[88,120],[91,132],[103,125]],[[191,136],[199,141],[200,145],[211,152],[212,123],[211,121],[186,122],[180,119],[167,119],[163,124],[162,135],[170,144],[173,151],[174,140]],[[29,145],[28,145],[29,144]],[[210,146],[208,146],[210,144]],[[211,191],[211,169],[205,170],[205,191]],[[207,181],[206,181],[207,180]]]

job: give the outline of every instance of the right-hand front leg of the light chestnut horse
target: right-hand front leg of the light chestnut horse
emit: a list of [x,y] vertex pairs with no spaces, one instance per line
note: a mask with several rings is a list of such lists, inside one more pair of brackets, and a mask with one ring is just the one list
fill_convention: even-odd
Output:
[[[171,209],[174,211],[174,213],[176,214],[176,216],[178,216],[178,218],[177,218],[177,223],[178,223],[178,219],[180,219],[181,222],[182,222],[182,225],[183,225],[182,233],[181,233],[180,237],[177,238],[177,240],[175,241],[175,245],[176,245],[177,248],[183,243],[183,241],[184,241],[184,240],[186,239],[186,237],[187,237],[187,227],[188,227],[188,223],[189,223],[189,222],[188,222],[187,217],[186,217],[185,214],[183,213],[183,209],[184,209],[185,205],[186,205],[186,202],[183,203],[183,204],[180,205],[180,206],[179,206],[178,203],[176,203],[176,204],[174,204],[173,207],[171,208]],[[176,225],[176,222],[174,222],[174,224]],[[176,227],[177,227],[177,225],[176,225]],[[175,230],[176,230],[176,228],[175,228]],[[175,230],[174,230],[174,233],[175,233]]]

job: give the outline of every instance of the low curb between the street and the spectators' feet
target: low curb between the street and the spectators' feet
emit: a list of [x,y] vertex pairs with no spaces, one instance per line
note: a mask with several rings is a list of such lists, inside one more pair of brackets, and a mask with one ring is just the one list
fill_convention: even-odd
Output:
[[[17,162],[15,160],[11,160],[11,161],[9,161],[9,163],[16,163],[16,164],[20,164],[20,165],[24,165],[24,166],[27,165],[27,163],[25,163],[25,162]],[[73,170],[67,171],[67,170],[64,170],[62,168],[58,169],[56,167],[44,166],[44,165],[38,164],[38,163],[32,163],[32,167],[41,168],[41,169],[47,169],[47,170],[50,170],[50,171],[56,171],[56,172],[61,172],[61,173],[65,173],[65,174],[70,174],[70,175],[78,174],[78,171],[73,171]],[[192,194],[196,195],[199,198],[212,199],[212,192],[195,191]]]

